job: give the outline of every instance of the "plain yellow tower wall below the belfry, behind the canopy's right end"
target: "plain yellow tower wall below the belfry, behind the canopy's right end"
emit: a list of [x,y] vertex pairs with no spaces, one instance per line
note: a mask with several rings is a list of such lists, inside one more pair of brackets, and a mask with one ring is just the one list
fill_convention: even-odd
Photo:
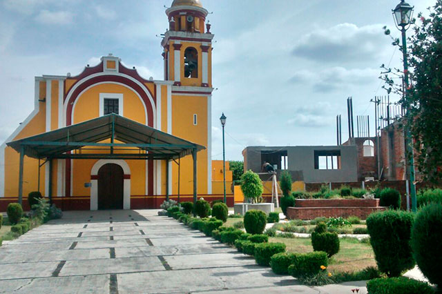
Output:
[[[193,114],[198,125],[193,125]],[[172,135],[207,146],[207,97],[172,96]],[[198,152],[198,193],[207,193],[207,150]],[[180,193],[193,193],[193,161],[191,156],[181,159]],[[177,193],[177,166],[173,164],[172,191]]]

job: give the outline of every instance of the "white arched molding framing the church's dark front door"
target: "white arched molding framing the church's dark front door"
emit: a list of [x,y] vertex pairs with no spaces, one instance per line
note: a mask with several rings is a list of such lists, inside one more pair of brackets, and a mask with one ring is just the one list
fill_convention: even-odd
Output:
[[[98,175],[98,170],[105,164],[117,164],[123,168],[124,175],[131,175],[126,161],[122,159],[99,159],[90,170],[90,176]],[[90,180],[90,210],[98,209],[98,180]],[[131,209],[131,179],[123,180],[123,209]]]

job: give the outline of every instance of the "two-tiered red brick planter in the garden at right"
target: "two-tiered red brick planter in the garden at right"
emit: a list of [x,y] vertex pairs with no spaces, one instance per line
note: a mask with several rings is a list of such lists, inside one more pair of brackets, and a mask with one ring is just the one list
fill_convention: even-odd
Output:
[[296,207],[287,208],[289,219],[316,217],[349,217],[366,219],[370,213],[385,210],[379,199],[296,199]]

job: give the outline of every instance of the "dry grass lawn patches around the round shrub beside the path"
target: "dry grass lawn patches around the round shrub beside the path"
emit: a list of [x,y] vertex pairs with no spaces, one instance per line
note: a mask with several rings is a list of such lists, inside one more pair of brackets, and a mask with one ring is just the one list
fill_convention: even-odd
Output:
[[[269,242],[281,242],[287,251],[294,253],[312,252],[310,238],[271,237]],[[341,238],[340,250],[329,262],[329,271],[360,271],[367,266],[376,266],[374,253],[370,244],[359,242],[355,238]]]

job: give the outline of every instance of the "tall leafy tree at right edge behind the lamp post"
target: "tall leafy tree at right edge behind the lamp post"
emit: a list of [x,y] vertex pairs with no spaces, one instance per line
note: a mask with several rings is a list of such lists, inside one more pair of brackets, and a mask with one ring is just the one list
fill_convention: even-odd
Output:
[[[399,103],[407,109],[401,122],[411,130],[416,167],[423,179],[437,183],[442,179],[442,0],[428,10],[428,18],[419,13],[414,34],[407,39],[408,71],[383,66],[386,72],[381,79],[387,93],[401,95]],[[390,35],[390,30],[385,29],[385,34]],[[393,45],[402,50],[398,39],[394,39]],[[402,75],[410,77],[405,92],[394,79]]]

